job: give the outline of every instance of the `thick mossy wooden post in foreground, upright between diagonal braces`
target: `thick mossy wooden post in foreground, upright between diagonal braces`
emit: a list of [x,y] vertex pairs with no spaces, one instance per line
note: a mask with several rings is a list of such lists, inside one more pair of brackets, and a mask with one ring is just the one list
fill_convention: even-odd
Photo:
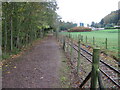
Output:
[[99,53],[100,49],[93,49],[91,89],[97,90],[98,72],[99,72]]

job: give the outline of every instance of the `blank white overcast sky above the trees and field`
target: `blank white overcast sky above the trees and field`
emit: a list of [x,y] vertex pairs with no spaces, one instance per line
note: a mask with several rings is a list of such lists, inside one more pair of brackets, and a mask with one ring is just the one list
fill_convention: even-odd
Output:
[[120,0],[56,0],[57,13],[64,21],[76,23],[99,22],[103,17],[118,9]]

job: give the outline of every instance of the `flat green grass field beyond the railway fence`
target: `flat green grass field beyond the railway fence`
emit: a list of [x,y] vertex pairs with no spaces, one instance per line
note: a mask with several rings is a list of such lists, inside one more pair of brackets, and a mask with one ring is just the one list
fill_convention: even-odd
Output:
[[[63,34],[67,35],[68,32],[64,32]],[[83,43],[90,46],[100,47],[102,50],[107,51],[110,54],[118,57],[118,29],[106,29],[106,30],[98,30],[91,32],[70,32],[70,35],[75,40],[78,39],[78,35],[83,36]],[[87,42],[86,42],[87,37]],[[93,37],[95,45],[93,45]],[[106,38],[107,38],[107,49],[106,49]]]

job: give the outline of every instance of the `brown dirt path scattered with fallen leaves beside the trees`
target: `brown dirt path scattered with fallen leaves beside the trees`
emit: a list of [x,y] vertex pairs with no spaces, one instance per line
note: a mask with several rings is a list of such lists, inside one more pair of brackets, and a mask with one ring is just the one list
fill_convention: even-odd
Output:
[[59,45],[49,35],[3,72],[3,88],[59,88],[62,58]]

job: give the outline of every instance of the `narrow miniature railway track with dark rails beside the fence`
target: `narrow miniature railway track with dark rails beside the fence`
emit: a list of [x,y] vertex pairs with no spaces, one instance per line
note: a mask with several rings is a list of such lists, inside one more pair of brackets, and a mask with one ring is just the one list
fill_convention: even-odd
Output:
[[[73,49],[75,51],[78,52],[78,45],[77,44],[73,44],[71,45],[69,43],[70,46],[73,46]],[[90,53],[89,51],[85,50],[84,48],[80,48],[81,51],[81,55],[87,59],[89,62],[92,63],[92,53]],[[110,66],[109,64],[107,64],[106,62],[104,62],[104,60],[102,60],[100,58],[100,71],[104,74],[103,78],[108,78],[114,85],[116,85],[118,88],[120,88],[120,84],[119,84],[119,78],[118,78],[118,74],[120,74],[120,71],[117,70],[116,68]]]

